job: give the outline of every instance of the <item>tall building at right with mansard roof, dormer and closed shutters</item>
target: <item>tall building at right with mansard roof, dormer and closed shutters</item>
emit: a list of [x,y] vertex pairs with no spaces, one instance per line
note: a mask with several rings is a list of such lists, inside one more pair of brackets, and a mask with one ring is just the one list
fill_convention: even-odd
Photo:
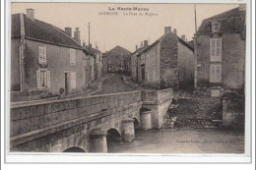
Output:
[[245,6],[205,19],[197,32],[197,85],[220,96],[244,88]]

